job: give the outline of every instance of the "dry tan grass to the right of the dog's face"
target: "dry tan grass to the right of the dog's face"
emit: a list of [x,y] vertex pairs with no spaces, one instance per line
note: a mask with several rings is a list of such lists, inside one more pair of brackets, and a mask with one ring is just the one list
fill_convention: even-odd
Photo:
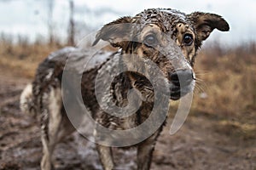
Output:
[[256,43],[236,48],[218,44],[199,54],[199,82],[192,114],[212,117],[219,133],[256,139]]

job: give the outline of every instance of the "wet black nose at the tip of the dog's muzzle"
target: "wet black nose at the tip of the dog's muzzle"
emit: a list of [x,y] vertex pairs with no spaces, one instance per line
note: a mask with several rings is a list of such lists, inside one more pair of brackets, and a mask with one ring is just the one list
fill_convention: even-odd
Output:
[[178,70],[172,72],[170,76],[171,82],[178,87],[188,86],[193,80],[193,71],[192,70]]

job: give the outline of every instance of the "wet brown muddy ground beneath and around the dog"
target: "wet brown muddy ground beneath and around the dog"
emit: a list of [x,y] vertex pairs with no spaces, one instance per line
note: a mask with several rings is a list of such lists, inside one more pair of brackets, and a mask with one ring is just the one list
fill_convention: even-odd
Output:
[[[39,122],[19,109],[22,88],[31,80],[0,72],[0,169],[36,170],[42,156]],[[175,135],[166,125],[156,144],[152,169],[256,169],[254,139],[218,127],[216,117],[189,115]],[[238,134],[239,135],[239,134]],[[117,169],[136,169],[135,150],[114,150]],[[102,169],[95,145],[73,133],[55,150],[57,170]]]

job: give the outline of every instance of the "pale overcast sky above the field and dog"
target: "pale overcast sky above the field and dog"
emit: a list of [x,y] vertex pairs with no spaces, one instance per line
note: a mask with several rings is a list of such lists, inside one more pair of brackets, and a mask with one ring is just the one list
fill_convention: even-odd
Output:
[[[230,32],[214,31],[210,41],[227,43],[256,40],[256,0],[74,0],[75,20],[99,29],[124,15],[134,15],[144,8],[176,8],[187,14],[194,11],[220,14],[230,23]],[[47,35],[48,0],[0,0],[0,31],[27,35]],[[55,32],[67,33],[68,0],[55,0]]]

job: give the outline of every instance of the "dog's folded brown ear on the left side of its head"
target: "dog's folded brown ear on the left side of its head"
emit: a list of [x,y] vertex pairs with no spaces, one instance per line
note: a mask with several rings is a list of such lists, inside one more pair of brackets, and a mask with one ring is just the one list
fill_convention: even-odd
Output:
[[92,46],[96,45],[102,39],[110,42],[113,47],[122,48],[125,45],[124,43],[130,39],[131,21],[131,17],[125,16],[103,26],[96,34],[96,40]]

